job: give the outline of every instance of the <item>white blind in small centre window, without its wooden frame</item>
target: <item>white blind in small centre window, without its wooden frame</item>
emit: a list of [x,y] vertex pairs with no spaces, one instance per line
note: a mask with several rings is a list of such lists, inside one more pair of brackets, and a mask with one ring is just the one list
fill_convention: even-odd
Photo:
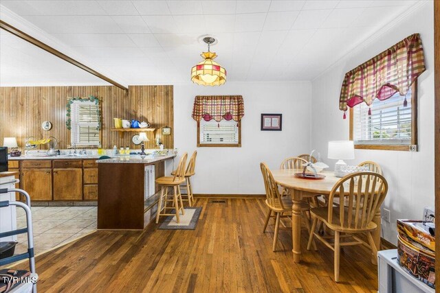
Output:
[[212,119],[200,121],[201,144],[237,144],[239,143],[239,126],[236,121]]

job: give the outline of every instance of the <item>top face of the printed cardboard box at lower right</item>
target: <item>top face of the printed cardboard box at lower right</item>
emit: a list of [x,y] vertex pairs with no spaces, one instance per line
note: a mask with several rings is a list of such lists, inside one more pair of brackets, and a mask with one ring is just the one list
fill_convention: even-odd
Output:
[[424,250],[424,253],[435,253],[435,238],[431,236],[426,224],[431,222],[415,220],[397,220],[397,233],[401,239]]

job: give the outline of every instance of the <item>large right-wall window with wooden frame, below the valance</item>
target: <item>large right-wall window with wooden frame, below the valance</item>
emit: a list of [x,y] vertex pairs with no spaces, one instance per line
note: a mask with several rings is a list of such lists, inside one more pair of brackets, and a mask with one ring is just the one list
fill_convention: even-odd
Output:
[[[371,107],[361,103],[350,110],[350,139],[355,148],[417,150],[417,85],[405,97],[396,93]],[[371,108],[371,115],[369,115]]]

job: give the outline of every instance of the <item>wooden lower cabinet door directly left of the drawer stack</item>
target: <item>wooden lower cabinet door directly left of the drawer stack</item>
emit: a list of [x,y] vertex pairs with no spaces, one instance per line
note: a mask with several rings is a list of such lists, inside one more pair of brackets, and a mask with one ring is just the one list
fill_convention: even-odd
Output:
[[54,200],[83,199],[83,169],[54,169]]

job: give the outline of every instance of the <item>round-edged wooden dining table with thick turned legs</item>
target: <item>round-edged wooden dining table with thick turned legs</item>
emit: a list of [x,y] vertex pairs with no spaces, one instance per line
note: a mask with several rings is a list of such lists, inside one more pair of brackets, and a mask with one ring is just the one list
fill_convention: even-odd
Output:
[[[336,177],[333,171],[322,171],[319,174],[325,175],[322,179],[305,179],[298,178],[295,173],[303,172],[303,169],[273,169],[272,175],[278,185],[289,190],[292,197],[292,239],[294,262],[301,260],[301,204],[304,198],[313,198],[314,196],[329,197],[333,186],[341,178]],[[380,209],[373,218],[373,222],[377,224],[377,229],[373,231],[373,239],[377,250],[380,250]]]

